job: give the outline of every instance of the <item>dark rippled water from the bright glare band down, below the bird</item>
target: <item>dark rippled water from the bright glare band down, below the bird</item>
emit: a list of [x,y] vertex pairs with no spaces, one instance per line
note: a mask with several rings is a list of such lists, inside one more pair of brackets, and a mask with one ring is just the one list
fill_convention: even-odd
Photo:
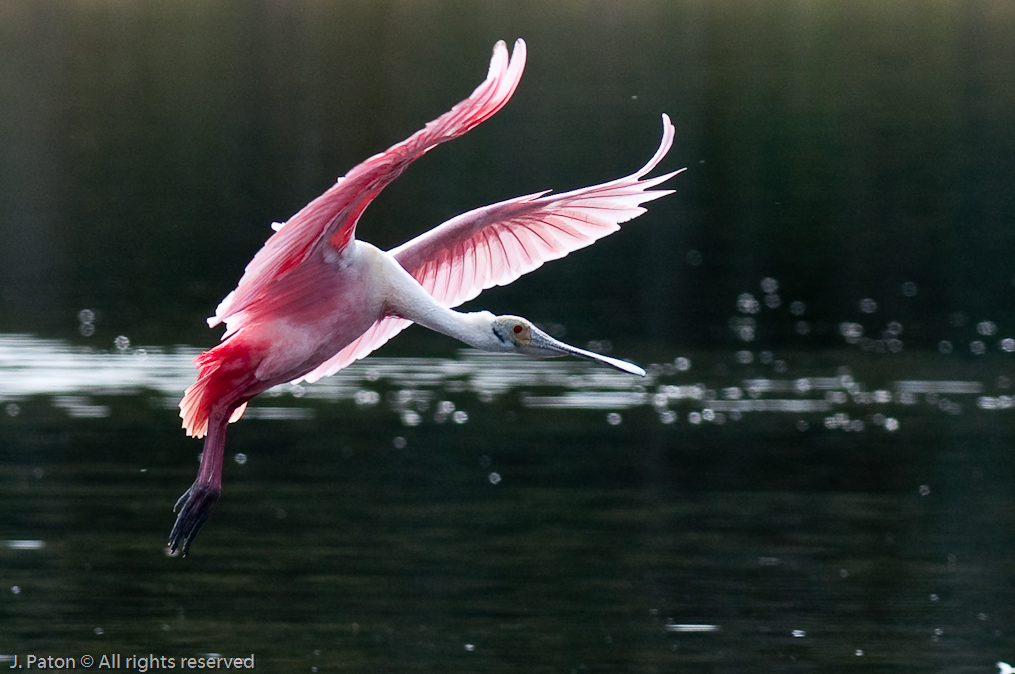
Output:
[[8,652],[655,671],[1011,643],[1001,354],[374,357],[252,405],[180,560],[193,355],[0,339]]

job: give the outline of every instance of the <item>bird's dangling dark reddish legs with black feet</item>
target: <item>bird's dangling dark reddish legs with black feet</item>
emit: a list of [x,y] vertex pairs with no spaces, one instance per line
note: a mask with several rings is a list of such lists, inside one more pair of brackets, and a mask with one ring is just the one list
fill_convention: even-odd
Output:
[[191,543],[211,515],[211,509],[222,491],[222,455],[225,452],[225,427],[229,415],[212,413],[208,420],[208,435],[204,439],[201,468],[191,488],[174,507],[177,523],[170,533],[170,551],[183,548],[186,557]]

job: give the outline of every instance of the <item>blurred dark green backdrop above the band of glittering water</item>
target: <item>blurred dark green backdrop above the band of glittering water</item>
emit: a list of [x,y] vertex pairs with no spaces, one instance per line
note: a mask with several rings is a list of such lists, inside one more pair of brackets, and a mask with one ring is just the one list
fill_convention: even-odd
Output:
[[[814,319],[872,297],[933,346],[1012,325],[1015,11],[1006,2],[0,4],[0,329],[209,344],[270,230],[530,62],[488,124],[367,211],[389,248],[466,209],[611,179],[677,128],[677,194],[474,302],[583,338],[716,343],[763,277]],[[702,264],[687,264],[689,250]],[[908,300],[900,284],[920,292]],[[419,339],[424,339],[419,337]],[[913,342],[916,343],[916,342]],[[773,345],[777,345],[774,342]],[[400,349],[400,346],[393,346]],[[445,352],[451,346],[437,346]]]

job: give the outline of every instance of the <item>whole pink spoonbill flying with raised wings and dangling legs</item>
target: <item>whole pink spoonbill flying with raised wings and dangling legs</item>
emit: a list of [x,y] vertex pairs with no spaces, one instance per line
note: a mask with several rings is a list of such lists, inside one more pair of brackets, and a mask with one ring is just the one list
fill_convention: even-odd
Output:
[[671,194],[652,188],[682,168],[645,178],[673,143],[666,114],[659,149],[630,176],[476,208],[387,252],[355,238],[364,209],[410,163],[503,108],[525,62],[524,40],[510,56],[497,42],[486,79],[469,97],[272,224],[274,233],[208,319],[209,327],[224,324],[225,331],[195,358],[197,381],[180,402],[187,434],[203,437],[204,448],[197,478],[174,508],[170,553],[187,555],[218,500],[226,428],[248,401],[278,384],[333,375],[412,323],[479,349],[573,355],[645,376],[637,365],[558,341],[524,318],[454,308],[616,231],[646,212],[644,202]]

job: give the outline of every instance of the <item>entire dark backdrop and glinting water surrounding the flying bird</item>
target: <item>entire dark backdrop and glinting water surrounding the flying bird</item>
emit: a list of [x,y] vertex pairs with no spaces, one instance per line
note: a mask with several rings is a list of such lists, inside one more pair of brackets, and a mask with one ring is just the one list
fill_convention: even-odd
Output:
[[[999,671],[1013,32],[1002,2],[0,2],[0,657]],[[360,231],[619,176],[668,112],[675,195],[471,302],[650,376],[412,329],[259,399],[166,556],[204,317],[517,36],[515,99]]]

